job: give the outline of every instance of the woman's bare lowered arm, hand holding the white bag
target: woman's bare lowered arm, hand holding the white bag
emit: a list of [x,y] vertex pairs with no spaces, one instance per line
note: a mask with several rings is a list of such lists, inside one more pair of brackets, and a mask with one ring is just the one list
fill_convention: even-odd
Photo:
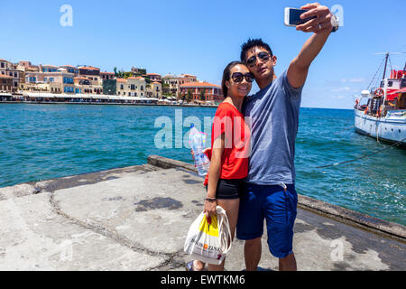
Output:
[[213,143],[210,167],[208,168],[208,194],[206,198],[213,199],[205,200],[205,210],[206,217],[213,216],[216,214],[217,200],[216,190],[217,183],[221,175],[221,157],[223,156],[225,148],[225,135],[217,137]]

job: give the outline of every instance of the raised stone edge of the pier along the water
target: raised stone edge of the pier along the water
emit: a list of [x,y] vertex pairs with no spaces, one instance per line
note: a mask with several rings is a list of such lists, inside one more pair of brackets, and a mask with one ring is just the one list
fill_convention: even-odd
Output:
[[[189,172],[198,172],[193,164],[180,162],[160,155],[149,155],[148,163],[162,169],[178,168],[188,170]],[[336,219],[356,228],[363,228],[383,237],[393,238],[401,243],[406,243],[406,227],[401,224],[377,219],[322,200],[309,198],[299,193],[298,207],[328,217],[329,219]]]

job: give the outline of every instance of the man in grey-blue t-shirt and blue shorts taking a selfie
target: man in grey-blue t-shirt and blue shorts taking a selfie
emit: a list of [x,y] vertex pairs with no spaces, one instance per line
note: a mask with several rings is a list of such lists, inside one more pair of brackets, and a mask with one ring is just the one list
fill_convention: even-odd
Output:
[[248,40],[242,46],[241,61],[247,64],[261,89],[246,99],[244,108],[245,117],[251,118],[252,152],[236,236],[245,240],[247,270],[256,270],[261,258],[263,219],[266,219],[268,247],[279,258],[279,269],[297,270],[292,251],[298,201],[294,149],[301,90],[311,62],[338,25],[326,6],[309,4],[301,9],[309,10],[302,18],[317,18],[296,29],[313,35],[281,76],[276,77],[274,73],[277,59],[268,44],[259,39]]

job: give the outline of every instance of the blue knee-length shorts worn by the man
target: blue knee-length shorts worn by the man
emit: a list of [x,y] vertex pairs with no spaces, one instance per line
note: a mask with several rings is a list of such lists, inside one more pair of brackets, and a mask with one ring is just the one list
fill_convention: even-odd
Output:
[[292,253],[293,224],[296,219],[298,193],[293,184],[255,185],[245,183],[236,226],[236,237],[250,240],[263,236],[266,219],[268,247],[273,256],[283,258]]

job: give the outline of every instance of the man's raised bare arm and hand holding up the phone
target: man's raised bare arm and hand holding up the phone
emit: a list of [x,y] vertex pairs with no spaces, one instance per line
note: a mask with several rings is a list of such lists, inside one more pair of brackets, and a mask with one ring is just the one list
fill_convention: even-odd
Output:
[[311,16],[317,16],[317,18],[296,26],[296,30],[313,33],[313,35],[304,43],[299,55],[291,61],[289,66],[288,80],[293,88],[300,88],[305,83],[311,62],[318,56],[318,52],[321,51],[333,30],[331,19],[334,15],[327,6],[314,3],[301,6],[300,9],[309,10],[300,15],[301,19]]

